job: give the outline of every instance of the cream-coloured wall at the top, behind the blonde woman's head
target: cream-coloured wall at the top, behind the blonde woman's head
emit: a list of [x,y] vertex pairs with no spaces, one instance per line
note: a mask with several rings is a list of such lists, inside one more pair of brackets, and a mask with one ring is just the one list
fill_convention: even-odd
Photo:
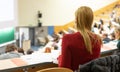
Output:
[[18,0],[19,26],[37,26],[37,13],[42,13],[43,26],[59,26],[74,20],[75,10],[82,5],[96,11],[117,0]]

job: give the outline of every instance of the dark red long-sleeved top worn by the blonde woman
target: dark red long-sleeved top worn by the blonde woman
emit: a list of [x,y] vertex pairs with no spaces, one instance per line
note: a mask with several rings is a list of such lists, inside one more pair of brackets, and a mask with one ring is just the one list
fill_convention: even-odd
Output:
[[92,53],[85,47],[83,37],[79,32],[66,34],[62,39],[62,52],[58,57],[60,67],[70,68],[73,71],[78,69],[80,64],[84,64],[100,56],[101,43],[97,41],[96,34],[93,34]]

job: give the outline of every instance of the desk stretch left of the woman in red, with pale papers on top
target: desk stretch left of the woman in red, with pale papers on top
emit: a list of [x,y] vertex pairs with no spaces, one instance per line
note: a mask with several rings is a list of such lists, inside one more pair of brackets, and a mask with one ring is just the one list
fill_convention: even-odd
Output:
[[37,51],[20,58],[0,60],[0,72],[17,72],[14,71],[17,69],[31,69],[28,72],[35,72],[43,68],[57,67],[57,64],[54,64],[52,60],[55,57],[53,53],[40,53]]

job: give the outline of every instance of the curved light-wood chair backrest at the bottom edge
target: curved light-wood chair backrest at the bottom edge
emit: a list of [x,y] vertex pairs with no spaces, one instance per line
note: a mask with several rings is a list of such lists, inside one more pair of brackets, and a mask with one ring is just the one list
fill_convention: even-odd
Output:
[[42,69],[37,72],[73,72],[71,69],[63,68],[63,67],[54,67],[54,68],[47,68]]

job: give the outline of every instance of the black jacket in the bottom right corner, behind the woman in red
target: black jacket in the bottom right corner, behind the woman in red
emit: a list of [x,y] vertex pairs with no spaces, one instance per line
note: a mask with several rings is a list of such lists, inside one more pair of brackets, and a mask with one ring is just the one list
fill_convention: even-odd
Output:
[[120,72],[120,55],[110,55],[80,65],[76,72]]

